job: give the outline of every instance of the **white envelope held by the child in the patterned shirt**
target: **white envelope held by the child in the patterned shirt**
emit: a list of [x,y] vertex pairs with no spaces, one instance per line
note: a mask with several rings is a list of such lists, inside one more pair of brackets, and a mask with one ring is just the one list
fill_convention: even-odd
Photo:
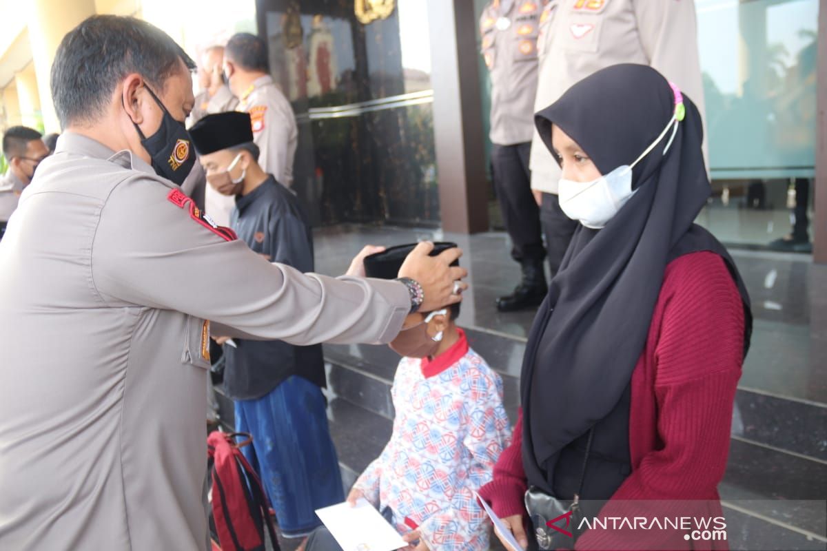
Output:
[[394,551],[408,546],[365,498],[355,507],[345,501],[316,514],[344,551]]

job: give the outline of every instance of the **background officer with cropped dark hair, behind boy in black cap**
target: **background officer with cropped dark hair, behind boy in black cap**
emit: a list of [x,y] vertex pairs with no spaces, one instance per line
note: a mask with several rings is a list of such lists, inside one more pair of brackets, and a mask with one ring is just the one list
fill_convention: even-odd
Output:
[[293,185],[299,129],[293,107],[269,71],[264,40],[241,32],[227,42],[224,72],[232,93],[240,100],[238,110],[250,113],[253,137],[261,151],[261,169],[289,188]]

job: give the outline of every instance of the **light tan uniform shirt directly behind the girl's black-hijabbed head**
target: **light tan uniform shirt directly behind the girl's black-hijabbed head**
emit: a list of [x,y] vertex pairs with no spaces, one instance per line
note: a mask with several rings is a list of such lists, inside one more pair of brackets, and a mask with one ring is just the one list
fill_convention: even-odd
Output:
[[[704,116],[692,0],[552,0],[541,20],[534,112],[600,69],[636,63],[650,65],[676,83]],[[560,167],[536,130],[530,167],[533,189],[557,193]]]

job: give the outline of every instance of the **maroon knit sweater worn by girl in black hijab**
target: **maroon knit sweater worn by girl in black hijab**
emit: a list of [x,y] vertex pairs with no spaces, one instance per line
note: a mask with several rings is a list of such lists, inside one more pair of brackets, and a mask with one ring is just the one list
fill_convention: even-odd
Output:
[[[616,513],[612,502],[619,500],[709,500],[703,512],[720,514],[717,486],[729,453],[743,324],[741,297],[717,254],[686,254],[667,265],[646,345],[632,373],[632,473],[601,515]],[[500,517],[526,514],[522,440],[520,411],[514,439],[500,455],[494,480],[480,489]],[[726,549],[721,543],[684,541],[682,532],[672,538],[676,535],[680,539],[663,542],[662,549]],[[644,544],[641,539],[654,537],[663,536],[636,530],[630,540],[619,532],[589,530],[576,547],[657,549],[653,541]]]

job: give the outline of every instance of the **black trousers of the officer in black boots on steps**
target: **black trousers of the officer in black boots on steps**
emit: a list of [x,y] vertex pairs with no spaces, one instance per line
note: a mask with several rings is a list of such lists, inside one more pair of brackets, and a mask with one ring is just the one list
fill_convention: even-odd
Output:
[[505,230],[513,243],[511,257],[521,264],[542,264],[546,249],[540,230],[540,211],[531,192],[531,173],[528,169],[530,152],[529,142],[492,144],[491,166]]

